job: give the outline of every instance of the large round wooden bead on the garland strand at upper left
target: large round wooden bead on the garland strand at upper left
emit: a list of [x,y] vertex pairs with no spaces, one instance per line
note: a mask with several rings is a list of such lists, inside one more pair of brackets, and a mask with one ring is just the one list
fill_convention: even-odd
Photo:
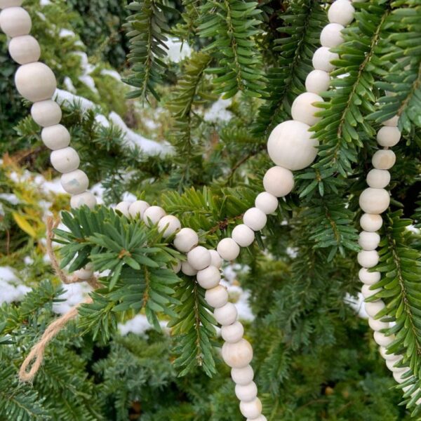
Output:
[[15,74],[15,85],[23,98],[37,102],[53,96],[57,81],[50,67],[34,62],[19,67]]

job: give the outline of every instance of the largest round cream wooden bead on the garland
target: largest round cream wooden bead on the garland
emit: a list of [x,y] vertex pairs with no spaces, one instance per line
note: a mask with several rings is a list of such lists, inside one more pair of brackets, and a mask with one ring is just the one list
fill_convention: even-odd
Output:
[[308,124],[289,120],[274,128],[267,141],[267,152],[276,165],[298,171],[314,161],[318,145],[319,140],[312,139]]

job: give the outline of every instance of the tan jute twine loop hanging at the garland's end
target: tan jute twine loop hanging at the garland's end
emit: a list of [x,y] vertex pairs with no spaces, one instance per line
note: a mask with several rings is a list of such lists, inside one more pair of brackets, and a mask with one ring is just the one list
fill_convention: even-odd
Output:
[[[65,273],[60,269],[60,265],[58,263],[57,258],[55,257],[54,250],[53,250],[53,239],[54,233],[53,229],[58,227],[60,223],[59,219],[54,220],[52,217],[48,217],[47,219],[47,238],[46,238],[46,249],[48,257],[51,260],[51,267],[53,267],[55,274],[60,278],[62,283],[77,283],[83,282],[85,280],[78,279],[77,276],[66,276]],[[88,279],[87,282],[91,285],[94,289],[98,288],[99,283],[98,280],[93,276],[91,279]],[[86,299],[83,303],[90,303],[92,302],[91,298]],[[82,303],[81,303],[82,304]],[[44,361],[44,352],[48,343],[55,338],[55,336],[65,328],[68,321],[74,319],[78,314],[78,309],[81,304],[74,306],[69,312],[63,314],[61,317],[53,321],[48,328],[46,328],[45,332],[41,336],[39,342],[37,342],[23,361],[22,366],[20,366],[19,370],[19,378],[22,382],[32,382],[36,373],[38,372],[39,368],[41,367]],[[28,370],[29,368],[29,370]]]

